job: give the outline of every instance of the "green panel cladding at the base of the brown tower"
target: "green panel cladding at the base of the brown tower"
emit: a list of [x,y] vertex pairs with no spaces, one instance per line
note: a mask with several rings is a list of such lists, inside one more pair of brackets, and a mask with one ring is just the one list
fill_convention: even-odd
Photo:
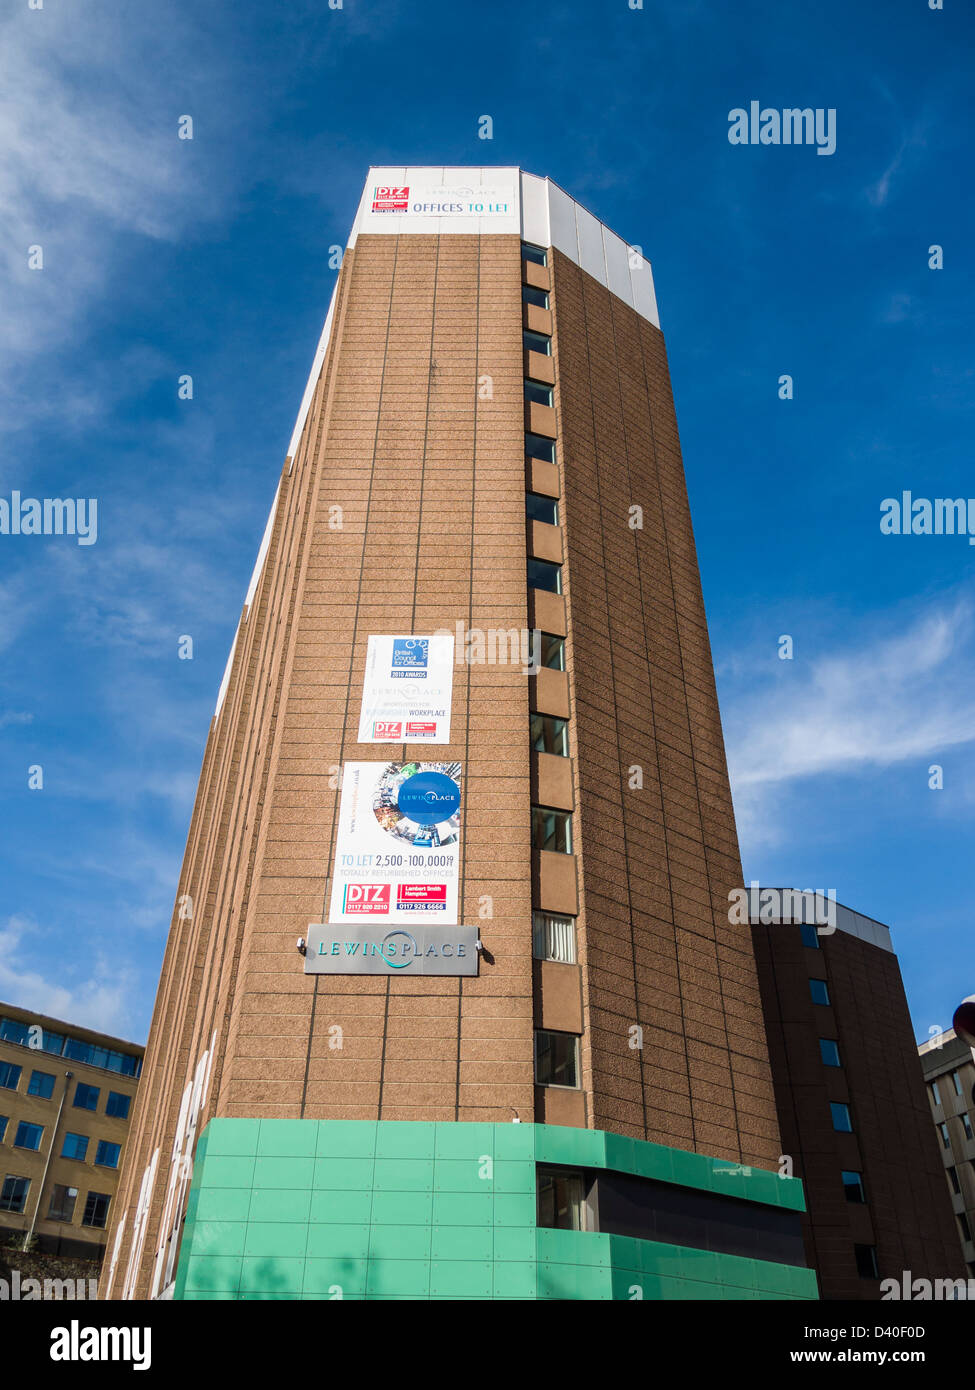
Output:
[[803,1211],[764,1169],[547,1125],[210,1120],[175,1298],[816,1298],[811,1269],[535,1225],[535,1163]]

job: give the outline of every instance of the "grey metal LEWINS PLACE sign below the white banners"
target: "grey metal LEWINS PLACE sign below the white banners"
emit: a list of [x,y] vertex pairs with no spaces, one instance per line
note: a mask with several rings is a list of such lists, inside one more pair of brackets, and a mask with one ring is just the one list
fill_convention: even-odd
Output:
[[305,974],[477,974],[477,927],[307,929]]

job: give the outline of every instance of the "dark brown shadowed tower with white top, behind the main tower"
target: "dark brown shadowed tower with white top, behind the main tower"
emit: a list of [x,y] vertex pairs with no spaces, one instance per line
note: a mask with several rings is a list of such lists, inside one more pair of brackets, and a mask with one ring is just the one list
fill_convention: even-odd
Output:
[[904,1272],[964,1277],[889,927],[809,894],[761,892],[752,933],[779,1126],[821,1297],[880,1298]]

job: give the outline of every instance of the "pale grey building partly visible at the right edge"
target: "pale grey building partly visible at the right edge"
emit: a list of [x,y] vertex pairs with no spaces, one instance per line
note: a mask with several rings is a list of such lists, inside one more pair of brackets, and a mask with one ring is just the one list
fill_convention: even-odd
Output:
[[968,1277],[975,1277],[975,1061],[953,1029],[918,1048]]

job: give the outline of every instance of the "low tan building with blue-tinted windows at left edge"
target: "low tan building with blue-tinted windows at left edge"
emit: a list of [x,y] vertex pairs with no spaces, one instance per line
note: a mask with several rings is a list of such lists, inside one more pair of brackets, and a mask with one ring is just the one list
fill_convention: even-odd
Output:
[[100,1259],[143,1048],[0,1004],[0,1243]]

